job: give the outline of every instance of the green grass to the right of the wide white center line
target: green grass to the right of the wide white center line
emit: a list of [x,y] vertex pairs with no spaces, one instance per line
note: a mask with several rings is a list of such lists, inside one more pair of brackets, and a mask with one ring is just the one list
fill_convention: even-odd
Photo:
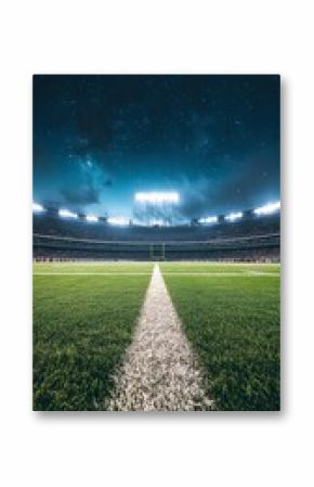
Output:
[[[180,272],[191,265],[161,267],[171,271],[176,267]],[[228,272],[232,265],[217,267]],[[270,273],[279,270],[278,266],[259,267]],[[246,266],[237,268],[241,272]],[[279,278],[239,274],[205,279],[166,273],[165,279],[218,408],[278,410]]]

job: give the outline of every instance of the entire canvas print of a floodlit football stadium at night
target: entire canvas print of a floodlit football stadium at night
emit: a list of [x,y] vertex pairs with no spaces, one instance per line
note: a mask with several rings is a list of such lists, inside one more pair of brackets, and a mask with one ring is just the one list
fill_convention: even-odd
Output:
[[277,76],[35,76],[34,410],[280,409]]

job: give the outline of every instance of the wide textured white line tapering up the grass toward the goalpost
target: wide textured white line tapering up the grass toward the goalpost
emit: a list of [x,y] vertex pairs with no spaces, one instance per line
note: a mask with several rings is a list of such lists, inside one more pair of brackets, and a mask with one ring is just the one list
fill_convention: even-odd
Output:
[[109,411],[214,409],[158,265],[115,386]]

